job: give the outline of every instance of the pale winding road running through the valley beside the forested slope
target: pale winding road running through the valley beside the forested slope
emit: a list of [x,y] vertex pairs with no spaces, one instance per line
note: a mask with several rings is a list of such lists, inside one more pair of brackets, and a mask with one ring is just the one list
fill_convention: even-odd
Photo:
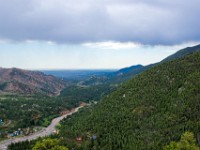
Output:
[[37,139],[38,137],[45,137],[45,136],[49,136],[51,135],[56,128],[56,125],[65,117],[72,115],[73,113],[76,113],[80,108],[82,108],[83,106],[77,107],[75,109],[73,109],[72,111],[70,111],[69,113],[62,115],[60,117],[54,118],[51,122],[51,124],[43,129],[40,132],[36,132],[32,135],[29,136],[23,136],[23,137],[18,137],[18,138],[11,138],[8,140],[4,140],[2,142],[0,142],[0,150],[7,150],[8,145],[10,145],[11,143],[17,143],[17,142],[22,142],[22,141],[26,141],[26,140],[34,140]]

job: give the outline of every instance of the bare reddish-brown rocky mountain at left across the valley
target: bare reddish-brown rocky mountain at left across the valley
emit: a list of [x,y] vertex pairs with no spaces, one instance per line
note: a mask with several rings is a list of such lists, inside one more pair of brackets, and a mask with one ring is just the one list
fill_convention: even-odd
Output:
[[66,83],[42,72],[0,68],[0,94],[59,95]]

